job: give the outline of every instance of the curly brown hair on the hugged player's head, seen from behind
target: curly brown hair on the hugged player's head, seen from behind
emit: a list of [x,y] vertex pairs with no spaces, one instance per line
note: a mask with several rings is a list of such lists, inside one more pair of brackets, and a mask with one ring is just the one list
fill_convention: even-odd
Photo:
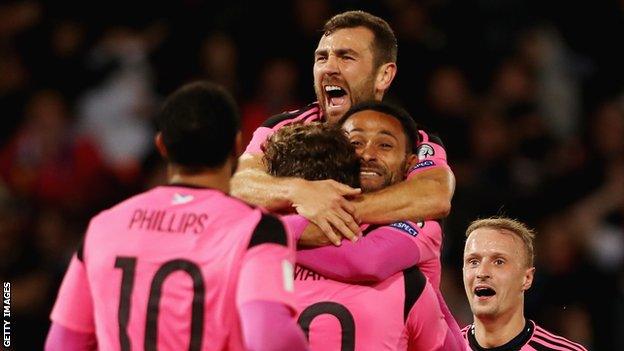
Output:
[[264,163],[273,176],[333,179],[354,188],[360,186],[360,160],[337,126],[291,124],[275,132],[263,148]]

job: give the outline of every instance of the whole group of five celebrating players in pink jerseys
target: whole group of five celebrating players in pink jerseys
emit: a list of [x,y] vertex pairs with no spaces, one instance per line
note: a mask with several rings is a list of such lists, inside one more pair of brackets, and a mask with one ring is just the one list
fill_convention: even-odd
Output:
[[91,220],[46,350],[586,350],[525,318],[535,233],[510,218],[466,230],[460,329],[440,291],[454,176],[442,141],[382,102],[396,58],[384,20],[334,16],[317,101],[246,148],[223,88],[172,93],[168,184]]

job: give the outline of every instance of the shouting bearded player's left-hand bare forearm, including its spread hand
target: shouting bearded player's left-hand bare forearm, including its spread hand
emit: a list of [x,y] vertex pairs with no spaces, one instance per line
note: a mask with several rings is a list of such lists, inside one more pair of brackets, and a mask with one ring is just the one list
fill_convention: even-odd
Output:
[[230,184],[233,196],[270,211],[293,207],[328,236],[352,239],[360,230],[355,206],[345,199],[359,194],[359,189],[333,180],[273,177],[267,174],[262,156],[250,153],[240,157]]

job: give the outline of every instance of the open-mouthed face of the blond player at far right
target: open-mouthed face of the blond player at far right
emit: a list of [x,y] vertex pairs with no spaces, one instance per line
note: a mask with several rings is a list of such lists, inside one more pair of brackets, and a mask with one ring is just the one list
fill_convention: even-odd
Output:
[[524,311],[524,292],[534,268],[526,265],[522,240],[506,231],[479,228],[464,249],[464,288],[479,319],[511,317]]

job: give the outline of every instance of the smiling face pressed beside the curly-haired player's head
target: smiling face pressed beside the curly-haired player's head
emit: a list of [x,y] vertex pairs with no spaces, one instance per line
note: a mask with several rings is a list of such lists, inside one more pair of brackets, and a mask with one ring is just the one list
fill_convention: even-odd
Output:
[[354,113],[343,124],[360,157],[363,191],[375,191],[402,181],[416,156],[407,151],[401,122],[377,111]]

